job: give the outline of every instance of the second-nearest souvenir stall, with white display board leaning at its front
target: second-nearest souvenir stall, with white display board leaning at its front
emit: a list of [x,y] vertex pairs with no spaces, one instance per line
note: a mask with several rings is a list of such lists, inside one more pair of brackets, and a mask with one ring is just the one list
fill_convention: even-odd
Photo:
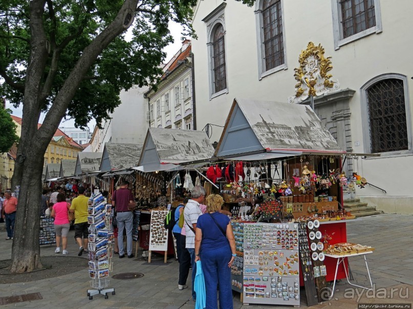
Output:
[[[149,250],[149,256],[152,251],[174,253],[172,237],[163,222],[168,208],[176,207],[183,198],[175,194],[173,187],[178,179],[180,182],[178,171],[183,168],[179,164],[209,160],[212,154],[213,147],[203,131],[148,129],[138,167],[134,169],[138,171],[136,197],[147,209],[141,210],[140,246]],[[187,175],[185,181],[190,191],[193,183]]]

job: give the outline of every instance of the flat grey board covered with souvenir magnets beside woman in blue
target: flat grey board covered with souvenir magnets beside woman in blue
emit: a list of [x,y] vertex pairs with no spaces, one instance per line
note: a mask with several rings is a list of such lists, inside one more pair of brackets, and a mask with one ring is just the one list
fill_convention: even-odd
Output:
[[244,223],[244,303],[299,305],[297,223]]

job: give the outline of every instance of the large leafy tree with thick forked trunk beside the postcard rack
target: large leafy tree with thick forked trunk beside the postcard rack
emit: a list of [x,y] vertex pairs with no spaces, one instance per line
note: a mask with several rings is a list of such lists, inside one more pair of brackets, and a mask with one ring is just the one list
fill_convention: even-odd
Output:
[[[41,267],[38,242],[44,154],[63,117],[99,124],[119,92],[156,81],[195,0],[0,0],[0,96],[23,104],[13,188],[20,185],[11,272]],[[132,40],[124,39],[133,28]],[[1,81],[0,81],[1,82]],[[37,127],[41,112],[46,116]]]

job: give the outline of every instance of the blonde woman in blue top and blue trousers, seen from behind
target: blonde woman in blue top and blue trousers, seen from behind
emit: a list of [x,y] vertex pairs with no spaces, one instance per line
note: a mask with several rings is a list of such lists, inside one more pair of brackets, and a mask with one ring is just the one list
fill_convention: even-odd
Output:
[[232,309],[231,265],[234,262],[235,240],[227,216],[219,212],[224,200],[217,194],[206,199],[207,213],[198,218],[195,231],[195,262],[201,260],[205,278],[206,309]]

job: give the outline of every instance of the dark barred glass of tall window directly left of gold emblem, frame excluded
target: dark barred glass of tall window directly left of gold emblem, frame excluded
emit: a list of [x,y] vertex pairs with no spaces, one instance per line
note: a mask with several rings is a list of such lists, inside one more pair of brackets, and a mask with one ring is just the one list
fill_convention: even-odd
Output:
[[284,63],[280,0],[264,1],[263,31],[265,70],[267,71]]

